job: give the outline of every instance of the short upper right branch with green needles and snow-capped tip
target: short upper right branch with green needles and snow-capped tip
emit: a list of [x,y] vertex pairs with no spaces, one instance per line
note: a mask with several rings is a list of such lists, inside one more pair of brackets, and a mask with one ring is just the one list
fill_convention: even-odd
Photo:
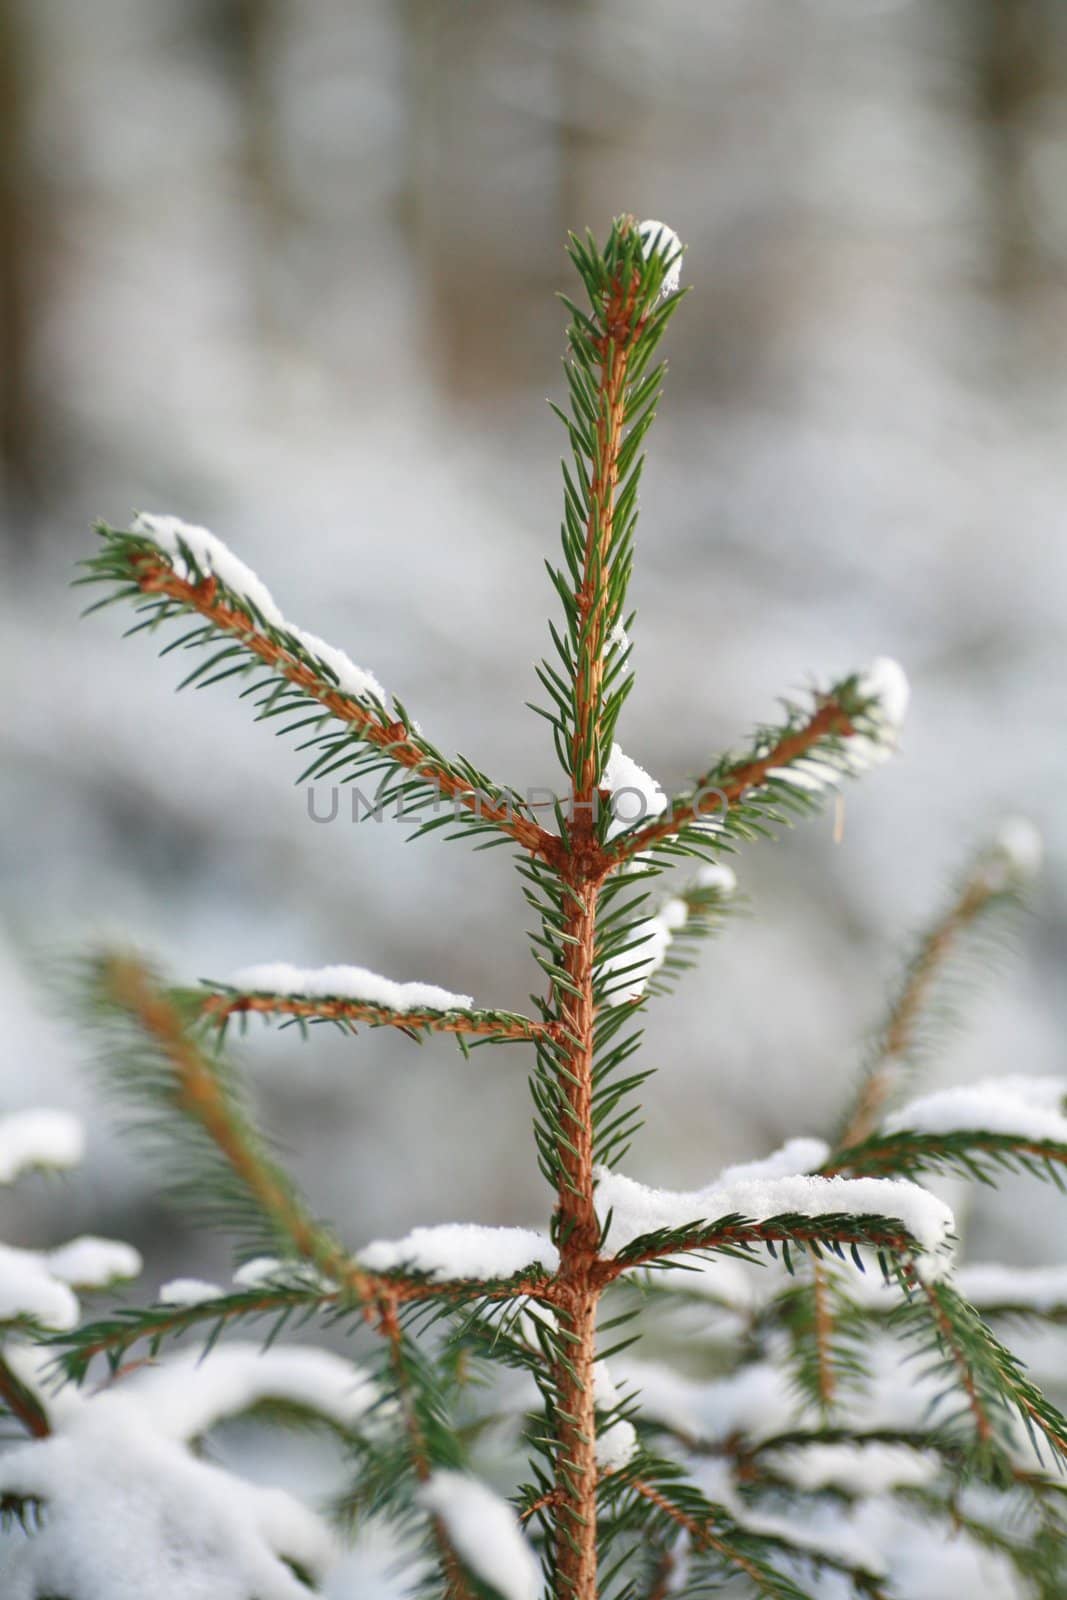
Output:
[[909,686],[896,661],[880,656],[808,706],[789,704],[787,722],[765,728],[744,757],[723,757],[662,814],[614,838],[613,862],[681,842],[747,838],[765,821],[813,810],[843,778],[888,760],[897,744]]

